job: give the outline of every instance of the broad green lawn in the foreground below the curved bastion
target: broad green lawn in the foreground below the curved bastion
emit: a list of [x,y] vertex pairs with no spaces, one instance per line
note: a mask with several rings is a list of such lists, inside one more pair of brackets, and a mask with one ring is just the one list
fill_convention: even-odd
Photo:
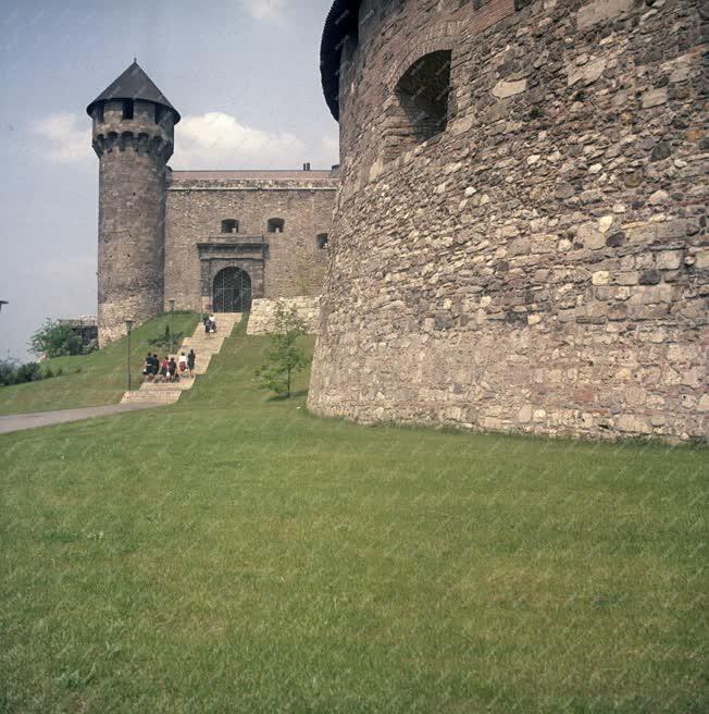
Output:
[[0,710],[708,710],[705,451],[318,419],[265,345],[0,436]]

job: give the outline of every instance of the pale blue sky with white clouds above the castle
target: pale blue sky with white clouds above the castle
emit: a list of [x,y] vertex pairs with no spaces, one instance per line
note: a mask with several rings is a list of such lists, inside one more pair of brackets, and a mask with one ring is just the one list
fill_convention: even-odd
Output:
[[174,169],[337,163],[320,88],[331,0],[26,0],[0,19],[0,357],[96,312],[98,159],[85,108],[137,57],[183,121]]

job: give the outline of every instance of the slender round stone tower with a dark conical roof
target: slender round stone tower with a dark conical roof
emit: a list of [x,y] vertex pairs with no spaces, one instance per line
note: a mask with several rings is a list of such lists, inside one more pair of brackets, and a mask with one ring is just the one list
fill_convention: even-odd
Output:
[[87,108],[99,157],[99,343],[163,310],[165,174],[179,113],[137,62]]

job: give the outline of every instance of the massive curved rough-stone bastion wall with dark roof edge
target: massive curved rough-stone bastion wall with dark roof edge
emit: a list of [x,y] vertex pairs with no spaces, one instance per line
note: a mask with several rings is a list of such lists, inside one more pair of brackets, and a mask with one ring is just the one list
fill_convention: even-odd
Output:
[[310,408],[706,436],[701,33],[694,0],[361,2]]

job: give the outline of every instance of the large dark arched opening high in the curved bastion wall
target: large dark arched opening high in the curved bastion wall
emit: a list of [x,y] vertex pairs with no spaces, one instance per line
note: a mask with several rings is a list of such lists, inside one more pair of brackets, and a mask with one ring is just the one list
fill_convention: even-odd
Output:
[[393,134],[409,148],[445,131],[450,96],[450,50],[438,50],[416,60],[399,79],[399,112]]

